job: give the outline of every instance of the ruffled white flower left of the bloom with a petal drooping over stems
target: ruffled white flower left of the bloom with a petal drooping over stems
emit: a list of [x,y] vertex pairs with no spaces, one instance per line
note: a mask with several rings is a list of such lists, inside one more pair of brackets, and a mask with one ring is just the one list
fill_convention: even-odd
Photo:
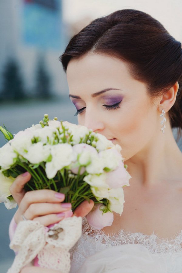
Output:
[[38,142],[29,147],[28,153],[25,153],[24,157],[32,164],[38,164],[46,161],[49,155],[50,145],[43,145],[42,142]]

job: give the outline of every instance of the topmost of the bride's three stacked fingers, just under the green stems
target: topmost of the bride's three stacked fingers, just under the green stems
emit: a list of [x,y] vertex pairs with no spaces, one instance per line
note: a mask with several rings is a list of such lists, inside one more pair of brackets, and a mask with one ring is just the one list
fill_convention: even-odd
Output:
[[33,190],[25,193],[19,209],[23,214],[32,203],[60,203],[64,201],[65,195],[54,190]]

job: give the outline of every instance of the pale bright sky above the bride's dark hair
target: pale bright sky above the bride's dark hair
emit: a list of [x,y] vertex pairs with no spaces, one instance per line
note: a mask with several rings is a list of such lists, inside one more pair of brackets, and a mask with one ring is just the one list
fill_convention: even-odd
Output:
[[182,41],[182,0],[62,0],[63,20],[74,23],[124,8],[138,9],[160,21],[175,39]]

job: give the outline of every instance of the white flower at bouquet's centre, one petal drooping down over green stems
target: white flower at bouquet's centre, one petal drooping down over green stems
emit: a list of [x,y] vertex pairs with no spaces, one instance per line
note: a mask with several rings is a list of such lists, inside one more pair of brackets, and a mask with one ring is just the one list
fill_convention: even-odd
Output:
[[63,167],[69,166],[76,159],[72,146],[68,143],[52,145],[51,155],[51,162],[45,164],[45,172],[49,179],[55,177],[59,170]]

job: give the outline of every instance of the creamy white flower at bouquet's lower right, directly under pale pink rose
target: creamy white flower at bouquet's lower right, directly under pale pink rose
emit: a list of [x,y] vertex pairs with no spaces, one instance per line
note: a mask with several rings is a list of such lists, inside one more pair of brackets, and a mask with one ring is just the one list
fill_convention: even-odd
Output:
[[123,204],[124,204],[124,193],[123,188],[110,189],[108,190],[108,200],[109,208],[111,211],[119,213],[120,215],[123,212]]

